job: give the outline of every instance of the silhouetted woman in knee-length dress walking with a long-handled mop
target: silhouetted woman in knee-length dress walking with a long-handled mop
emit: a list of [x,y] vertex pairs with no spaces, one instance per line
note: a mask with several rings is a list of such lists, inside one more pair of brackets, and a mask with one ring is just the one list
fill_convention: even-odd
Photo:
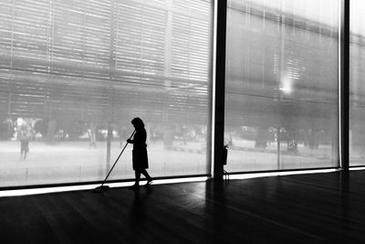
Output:
[[131,124],[133,124],[136,133],[134,134],[133,139],[128,139],[127,142],[133,144],[132,164],[136,179],[134,185],[130,186],[130,189],[138,190],[141,174],[147,178],[146,186],[150,186],[152,178],[146,171],[149,165],[146,144],[147,133],[144,129],[144,123],[140,118],[134,118],[131,121]]

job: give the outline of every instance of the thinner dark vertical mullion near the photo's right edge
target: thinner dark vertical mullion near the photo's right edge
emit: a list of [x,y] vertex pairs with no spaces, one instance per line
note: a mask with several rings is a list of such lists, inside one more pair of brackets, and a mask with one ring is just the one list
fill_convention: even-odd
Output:
[[339,80],[339,163],[349,172],[349,0],[341,1]]

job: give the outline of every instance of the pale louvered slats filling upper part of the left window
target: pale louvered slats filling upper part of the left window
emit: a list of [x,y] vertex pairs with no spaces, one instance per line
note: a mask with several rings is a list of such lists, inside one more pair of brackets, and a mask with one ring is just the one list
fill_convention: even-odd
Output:
[[2,1],[0,114],[206,123],[209,1]]

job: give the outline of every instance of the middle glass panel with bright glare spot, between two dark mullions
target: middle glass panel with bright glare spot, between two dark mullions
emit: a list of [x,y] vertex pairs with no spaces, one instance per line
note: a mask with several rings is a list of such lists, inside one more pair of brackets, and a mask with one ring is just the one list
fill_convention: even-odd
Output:
[[338,165],[338,29],[339,1],[228,1],[228,172]]

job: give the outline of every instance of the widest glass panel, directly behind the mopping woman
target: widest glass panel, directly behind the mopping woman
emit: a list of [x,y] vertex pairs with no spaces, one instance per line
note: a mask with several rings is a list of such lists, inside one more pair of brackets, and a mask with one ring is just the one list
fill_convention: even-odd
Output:
[[[209,174],[212,13],[203,0],[2,1],[0,186],[104,179],[134,117],[151,176]],[[110,179],[132,177],[129,145]]]

